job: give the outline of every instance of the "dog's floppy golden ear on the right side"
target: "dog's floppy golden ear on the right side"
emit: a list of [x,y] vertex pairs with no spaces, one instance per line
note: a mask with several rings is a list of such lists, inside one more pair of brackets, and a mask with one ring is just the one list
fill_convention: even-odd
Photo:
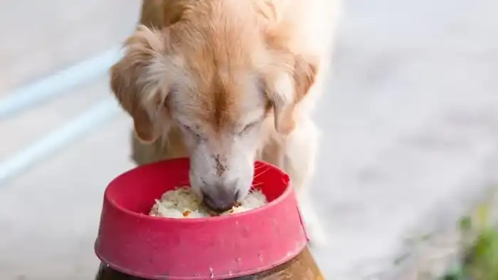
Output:
[[288,135],[295,128],[297,104],[314,84],[317,63],[293,55],[277,69],[267,76],[270,79],[265,84],[267,96],[273,105],[275,130]]

